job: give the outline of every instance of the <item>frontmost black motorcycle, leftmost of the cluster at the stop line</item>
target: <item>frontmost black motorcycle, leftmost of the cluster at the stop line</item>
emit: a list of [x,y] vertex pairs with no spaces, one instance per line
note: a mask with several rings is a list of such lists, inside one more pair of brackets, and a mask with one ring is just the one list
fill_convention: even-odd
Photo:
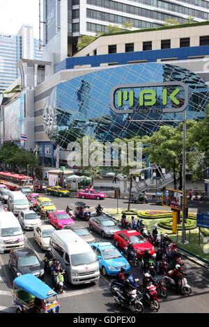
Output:
[[144,306],[141,303],[142,296],[141,298],[139,297],[136,289],[133,289],[131,292],[129,292],[130,299],[127,299],[123,296],[121,289],[118,289],[116,287],[115,291],[116,293],[114,295],[114,300],[116,301],[116,303],[125,306],[133,306],[137,312],[142,312],[144,310]]

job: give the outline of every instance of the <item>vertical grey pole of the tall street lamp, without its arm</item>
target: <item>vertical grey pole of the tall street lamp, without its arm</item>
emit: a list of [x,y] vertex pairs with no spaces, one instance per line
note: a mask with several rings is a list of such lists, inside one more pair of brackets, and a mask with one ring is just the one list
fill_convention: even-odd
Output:
[[182,244],[185,243],[185,166],[186,166],[186,154],[185,154],[185,141],[186,141],[186,111],[183,113],[183,207],[182,207]]

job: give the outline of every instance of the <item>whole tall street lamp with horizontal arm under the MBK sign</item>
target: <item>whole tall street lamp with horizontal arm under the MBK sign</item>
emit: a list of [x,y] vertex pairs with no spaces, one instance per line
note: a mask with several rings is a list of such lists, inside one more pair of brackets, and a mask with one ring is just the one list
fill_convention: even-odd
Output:
[[185,218],[186,218],[186,198],[185,198],[185,166],[186,166],[186,153],[185,153],[185,141],[186,141],[186,111],[183,111],[183,120],[132,120],[130,115],[125,118],[128,122],[183,122],[183,204],[182,204],[182,244],[185,243]]

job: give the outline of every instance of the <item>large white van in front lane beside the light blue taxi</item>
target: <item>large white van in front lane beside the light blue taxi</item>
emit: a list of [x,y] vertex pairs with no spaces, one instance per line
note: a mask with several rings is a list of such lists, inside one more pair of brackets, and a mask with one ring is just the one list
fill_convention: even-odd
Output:
[[55,230],[49,247],[53,257],[66,271],[68,282],[73,285],[97,282],[100,267],[91,246],[72,230]]

